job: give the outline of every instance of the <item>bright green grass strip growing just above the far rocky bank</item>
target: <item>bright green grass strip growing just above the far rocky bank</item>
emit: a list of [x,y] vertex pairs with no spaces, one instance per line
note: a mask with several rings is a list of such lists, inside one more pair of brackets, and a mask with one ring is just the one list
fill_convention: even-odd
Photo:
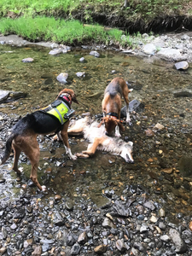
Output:
[[[55,20],[53,17],[20,17],[15,20],[3,18],[0,32],[4,35],[15,33],[32,41],[44,40],[62,44],[89,44],[93,41],[106,44],[110,40],[117,44],[122,42],[123,34],[118,29],[105,31],[102,26],[84,26],[79,20]],[[129,42],[129,36],[125,38]]]

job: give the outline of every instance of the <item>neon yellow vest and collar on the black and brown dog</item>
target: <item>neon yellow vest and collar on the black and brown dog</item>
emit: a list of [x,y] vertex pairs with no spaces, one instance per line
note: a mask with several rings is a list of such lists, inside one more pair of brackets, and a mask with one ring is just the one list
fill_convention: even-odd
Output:
[[41,108],[41,111],[55,116],[56,119],[59,119],[61,125],[63,125],[73,116],[74,110],[71,109],[71,104],[72,96],[63,93],[55,102],[52,102],[45,108]]

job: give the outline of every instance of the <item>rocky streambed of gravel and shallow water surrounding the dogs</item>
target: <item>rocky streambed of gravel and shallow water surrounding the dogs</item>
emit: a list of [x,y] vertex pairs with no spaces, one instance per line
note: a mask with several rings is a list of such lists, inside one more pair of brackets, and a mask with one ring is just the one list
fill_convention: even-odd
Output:
[[[132,125],[125,125],[122,138],[134,143],[135,163],[102,152],[73,162],[61,143],[38,137],[38,177],[46,193],[32,187],[25,154],[20,156],[20,177],[11,170],[13,155],[0,169],[0,254],[191,255],[189,59],[182,72],[174,62],[157,60],[156,52],[135,58],[137,50],[119,55],[97,47],[92,48],[97,56],[72,50],[50,57],[45,49],[13,49],[1,49],[1,89],[23,91],[26,97],[9,93],[1,103],[1,152],[20,115],[55,99],[63,86],[90,107],[74,106],[75,118],[90,110],[101,119],[102,91],[113,77],[122,76],[134,89]],[[34,61],[21,62],[28,57]],[[79,72],[85,73],[79,77]],[[71,82],[61,84],[60,73],[69,74],[64,78]],[[69,142],[73,152],[87,146],[83,137],[70,137]]]

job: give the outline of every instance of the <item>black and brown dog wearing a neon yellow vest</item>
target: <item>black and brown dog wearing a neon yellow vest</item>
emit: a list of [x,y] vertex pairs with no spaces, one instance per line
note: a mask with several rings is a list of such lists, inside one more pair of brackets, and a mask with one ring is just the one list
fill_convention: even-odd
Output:
[[3,156],[0,158],[0,164],[3,165],[9,158],[11,148],[15,152],[15,160],[13,170],[20,174],[18,169],[18,160],[20,152],[23,151],[29,158],[32,164],[32,171],[30,178],[32,182],[40,190],[46,189],[38,183],[38,161],[39,161],[39,147],[37,137],[39,134],[50,134],[52,132],[58,133],[61,131],[61,138],[66,148],[66,153],[72,160],[76,160],[77,156],[73,155],[69,148],[67,129],[69,125],[69,113],[72,113],[72,102],[79,103],[73,90],[61,90],[55,102],[50,104],[47,108],[43,108],[34,113],[27,114],[20,119],[9,136]]

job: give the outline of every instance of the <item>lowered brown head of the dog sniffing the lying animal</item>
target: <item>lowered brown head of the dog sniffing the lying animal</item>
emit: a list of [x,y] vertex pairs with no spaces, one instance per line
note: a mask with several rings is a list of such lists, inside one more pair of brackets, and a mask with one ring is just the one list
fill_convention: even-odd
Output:
[[124,125],[122,125],[121,121],[119,119],[113,118],[112,116],[105,116],[104,118],[102,118],[102,121],[98,125],[98,127],[101,127],[103,123],[105,124],[107,136],[112,135],[113,131],[115,131],[116,126],[119,126],[120,131],[125,131],[125,127]]

